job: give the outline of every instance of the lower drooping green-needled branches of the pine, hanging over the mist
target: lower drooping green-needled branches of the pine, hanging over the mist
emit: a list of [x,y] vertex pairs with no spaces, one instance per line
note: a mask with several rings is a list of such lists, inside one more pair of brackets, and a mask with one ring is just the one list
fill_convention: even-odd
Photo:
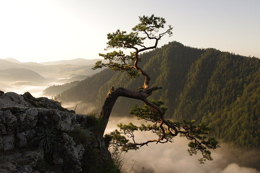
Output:
[[[156,106],[159,106],[163,111],[166,111],[167,108],[163,106],[163,101],[158,100],[155,102],[151,101]],[[192,156],[193,154],[197,154],[199,151],[202,154],[202,158],[199,159],[199,163],[204,163],[206,160],[213,160],[211,158],[210,150],[215,150],[218,148],[218,142],[212,138],[207,137],[209,133],[211,133],[211,129],[207,127],[204,123],[199,125],[195,125],[195,121],[185,121],[182,122],[171,122],[167,120],[170,125],[173,125],[177,128],[177,132],[169,131],[169,126],[165,124],[161,124],[161,119],[156,111],[154,111],[151,107],[144,105],[139,107],[137,104],[131,109],[130,114],[138,117],[138,120],[145,120],[146,122],[151,122],[152,124],[141,124],[140,126],[135,126],[132,123],[125,124],[117,124],[119,130],[115,130],[111,132],[109,135],[106,135],[109,144],[108,146],[117,146],[120,147],[121,151],[127,152],[128,150],[137,150],[138,146],[147,145],[148,143],[156,142],[156,143],[166,143],[173,142],[174,134],[179,133],[180,136],[185,137],[190,140],[188,144],[189,149],[188,153]],[[164,126],[163,128],[161,126]],[[162,133],[162,129],[166,131],[165,134]],[[134,132],[140,130],[141,132],[150,131],[157,135],[161,140],[149,140],[147,142],[137,143],[134,139]],[[130,139],[132,142],[130,142]]]

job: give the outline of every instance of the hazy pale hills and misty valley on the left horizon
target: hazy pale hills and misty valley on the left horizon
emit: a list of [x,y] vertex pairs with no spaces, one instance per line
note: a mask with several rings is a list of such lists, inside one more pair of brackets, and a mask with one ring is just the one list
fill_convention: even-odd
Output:
[[[83,80],[102,70],[93,71],[91,69],[95,61],[77,59],[60,61],[60,63],[70,64],[57,64],[55,62],[53,63],[55,65],[43,65],[36,62],[19,62],[13,58],[0,59],[0,89],[7,92],[12,87],[12,91],[19,92],[27,86],[48,87],[53,84]],[[63,87],[61,88],[58,93],[64,90]],[[48,95],[48,93],[45,94]]]

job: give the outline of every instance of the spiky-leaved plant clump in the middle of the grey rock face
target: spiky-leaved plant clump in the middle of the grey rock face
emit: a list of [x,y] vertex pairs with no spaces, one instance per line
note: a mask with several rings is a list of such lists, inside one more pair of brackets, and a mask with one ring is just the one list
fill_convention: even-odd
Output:
[[56,145],[56,131],[54,129],[38,127],[36,136],[31,141],[32,145],[43,149],[45,154],[52,154],[53,147]]

